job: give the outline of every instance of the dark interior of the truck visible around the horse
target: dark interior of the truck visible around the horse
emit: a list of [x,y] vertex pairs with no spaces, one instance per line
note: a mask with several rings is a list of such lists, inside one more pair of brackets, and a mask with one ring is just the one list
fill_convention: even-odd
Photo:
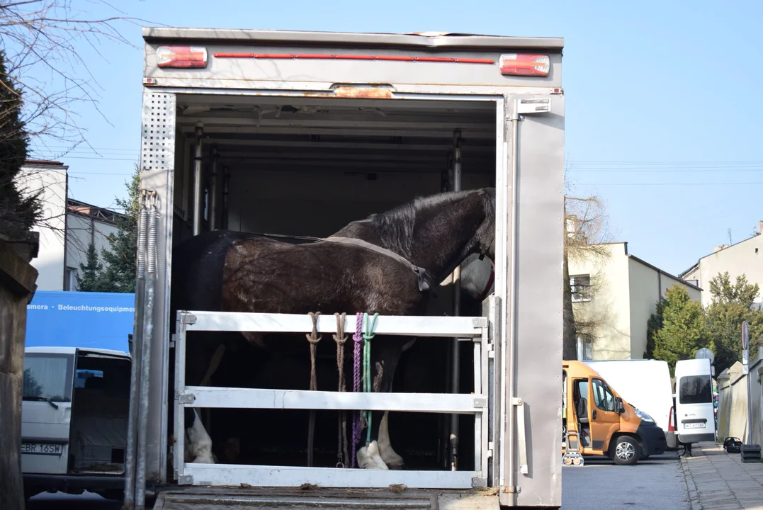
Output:
[[[448,191],[456,159],[463,168],[462,189],[491,187],[495,181],[494,102],[187,95],[179,98],[176,125],[184,147],[179,168],[185,172],[175,172],[175,204],[193,204],[199,144],[204,231],[227,226],[330,236],[351,221]],[[192,214],[185,210],[175,209],[175,243],[192,236]],[[451,279],[436,293],[428,315],[456,315]],[[480,316],[480,300],[466,295],[461,315]],[[304,347],[299,358],[240,342],[239,351],[224,356],[210,386],[308,390],[309,344],[304,337],[294,342]],[[459,342],[459,393],[475,390],[469,343]],[[418,338],[395,371],[394,391],[451,393],[452,370],[444,369],[451,364],[450,347],[442,338]],[[318,390],[337,390],[330,335],[324,335],[317,354]],[[352,383],[352,360],[345,365]],[[201,415],[221,463],[307,465],[307,411],[205,409]],[[314,466],[337,465],[337,419],[337,412],[317,412]],[[449,415],[392,412],[389,424],[407,469],[452,468]],[[458,444],[456,467],[475,470],[474,416],[459,416]]]

